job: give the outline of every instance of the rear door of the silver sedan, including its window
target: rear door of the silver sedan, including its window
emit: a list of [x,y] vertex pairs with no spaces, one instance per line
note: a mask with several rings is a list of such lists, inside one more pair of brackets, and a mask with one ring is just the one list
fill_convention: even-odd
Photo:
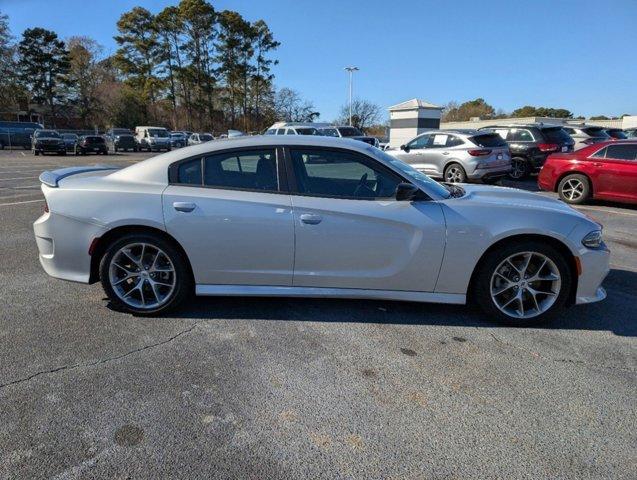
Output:
[[292,284],[294,224],[282,153],[275,148],[173,164],[163,210],[197,284]]

